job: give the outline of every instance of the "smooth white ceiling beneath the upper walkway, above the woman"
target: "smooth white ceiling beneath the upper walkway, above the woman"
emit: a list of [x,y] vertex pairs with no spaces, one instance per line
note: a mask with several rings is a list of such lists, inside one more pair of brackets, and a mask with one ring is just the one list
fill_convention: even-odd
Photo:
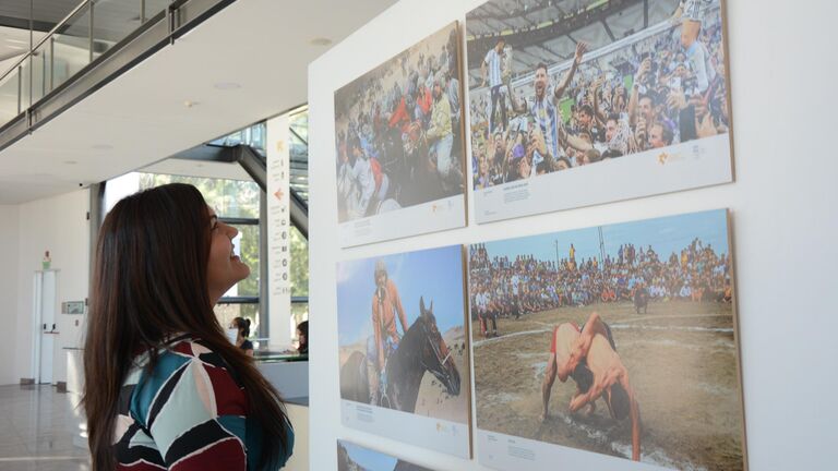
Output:
[[308,64],[328,49],[311,40],[338,43],[394,2],[236,1],[0,152],[0,204],[107,180],[303,104]]

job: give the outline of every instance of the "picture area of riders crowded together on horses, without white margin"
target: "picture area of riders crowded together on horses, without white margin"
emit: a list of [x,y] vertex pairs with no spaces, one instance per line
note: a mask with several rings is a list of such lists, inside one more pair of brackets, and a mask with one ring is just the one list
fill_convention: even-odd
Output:
[[464,193],[457,24],[335,92],[340,222]]

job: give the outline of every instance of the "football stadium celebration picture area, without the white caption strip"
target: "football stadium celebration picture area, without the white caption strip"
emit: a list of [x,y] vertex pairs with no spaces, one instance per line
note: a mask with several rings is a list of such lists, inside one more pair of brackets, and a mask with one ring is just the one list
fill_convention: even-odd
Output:
[[729,132],[720,0],[492,0],[466,19],[475,189]]

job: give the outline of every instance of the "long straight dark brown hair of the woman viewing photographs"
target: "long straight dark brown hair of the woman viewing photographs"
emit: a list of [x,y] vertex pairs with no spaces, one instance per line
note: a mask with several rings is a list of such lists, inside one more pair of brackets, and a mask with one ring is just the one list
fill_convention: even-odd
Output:
[[116,467],[119,395],[133,359],[148,352],[148,367],[154,367],[158,349],[180,333],[220,354],[244,387],[251,418],[263,432],[259,469],[275,467],[286,454],[287,414],[279,394],[227,340],[213,312],[207,288],[211,238],[206,203],[188,184],[128,196],[105,218],[84,349],[83,404],[96,471]]

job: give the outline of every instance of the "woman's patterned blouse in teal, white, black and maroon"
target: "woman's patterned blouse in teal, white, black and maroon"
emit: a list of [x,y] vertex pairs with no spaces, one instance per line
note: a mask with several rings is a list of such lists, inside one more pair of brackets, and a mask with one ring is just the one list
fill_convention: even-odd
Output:
[[170,342],[155,353],[145,354],[145,366],[122,389],[125,396],[120,403],[128,410],[123,413],[124,415],[120,420],[129,426],[117,432],[119,442],[130,449],[140,430],[146,437],[144,445],[157,449],[167,463],[190,457],[204,464],[213,461],[217,469],[241,469],[247,448],[235,445],[247,443],[250,408],[227,362],[207,342],[194,338]]

